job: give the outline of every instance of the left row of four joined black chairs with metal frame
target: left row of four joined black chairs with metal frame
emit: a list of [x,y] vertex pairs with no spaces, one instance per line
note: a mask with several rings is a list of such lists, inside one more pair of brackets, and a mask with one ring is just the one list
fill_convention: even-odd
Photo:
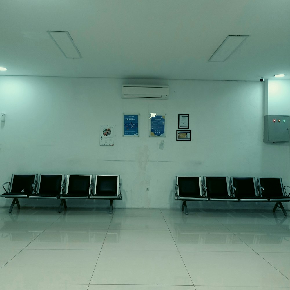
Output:
[[77,175],[77,174],[12,174],[11,181],[2,186],[5,198],[12,198],[9,212],[14,204],[20,208],[19,198],[59,199],[59,213],[66,209],[68,199],[107,199],[110,200],[110,210],[113,210],[113,200],[122,199],[120,175]]

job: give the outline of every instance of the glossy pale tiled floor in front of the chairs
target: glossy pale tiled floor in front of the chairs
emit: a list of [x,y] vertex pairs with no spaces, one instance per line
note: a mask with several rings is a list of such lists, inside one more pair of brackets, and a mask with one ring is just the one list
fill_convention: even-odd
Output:
[[0,289],[290,290],[290,218],[0,208]]

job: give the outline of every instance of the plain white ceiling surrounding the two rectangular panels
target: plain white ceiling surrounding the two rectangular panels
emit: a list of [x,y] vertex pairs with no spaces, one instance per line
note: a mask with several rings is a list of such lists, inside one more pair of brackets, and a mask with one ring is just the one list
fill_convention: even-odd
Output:
[[[0,75],[290,79],[290,0],[0,0]],[[48,30],[68,31],[67,59]],[[228,35],[249,35],[208,62]]]

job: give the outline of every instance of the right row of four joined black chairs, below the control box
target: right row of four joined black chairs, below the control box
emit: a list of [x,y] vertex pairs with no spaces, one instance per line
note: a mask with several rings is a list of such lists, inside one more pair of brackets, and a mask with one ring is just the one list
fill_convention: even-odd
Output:
[[282,202],[290,201],[282,178],[176,176],[175,200],[182,200],[182,210],[188,214],[186,201],[276,202],[287,213]]

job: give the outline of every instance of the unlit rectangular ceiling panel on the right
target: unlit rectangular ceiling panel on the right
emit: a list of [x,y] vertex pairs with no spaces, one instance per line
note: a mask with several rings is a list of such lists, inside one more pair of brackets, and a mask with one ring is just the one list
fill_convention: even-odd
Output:
[[225,61],[248,36],[249,35],[228,35],[208,61]]

